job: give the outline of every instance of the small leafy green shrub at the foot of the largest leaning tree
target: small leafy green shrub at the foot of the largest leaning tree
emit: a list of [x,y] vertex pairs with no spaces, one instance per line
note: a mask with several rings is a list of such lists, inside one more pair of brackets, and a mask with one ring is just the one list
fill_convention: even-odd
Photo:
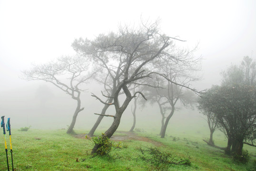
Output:
[[105,156],[108,155],[109,152],[120,148],[120,142],[115,145],[114,142],[110,141],[110,139],[104,133],[98,137],[89,138],[87,135],[85,137],[93,142],[94,145],[98,145],[98,149],[94,155]]

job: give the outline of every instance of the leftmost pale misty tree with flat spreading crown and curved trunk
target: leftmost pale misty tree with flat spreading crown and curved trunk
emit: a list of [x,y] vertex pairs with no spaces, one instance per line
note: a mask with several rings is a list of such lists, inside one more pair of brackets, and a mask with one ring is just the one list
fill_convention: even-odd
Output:
[[22,79],[49,82],[77,101],[77,107],[67,131],[72,133],[77,115],[84,110],[84,107],[81,108],[80,94],[85,89],[82,89],[81,85],[96,74],[96,72],[89,74],[89,69],[89,63],[84,57],[59,57],[55,62],[33,65],[30,70],[22,71]]

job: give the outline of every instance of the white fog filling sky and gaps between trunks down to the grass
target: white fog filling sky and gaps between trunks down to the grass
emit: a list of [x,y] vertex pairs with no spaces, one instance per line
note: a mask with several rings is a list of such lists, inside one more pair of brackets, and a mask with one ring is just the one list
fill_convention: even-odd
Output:
[[[198,91],[220,83],[222,70],[239,64],[244,56],[256,60],[255,0],[0,0],[0,113],[12,119],[12,127],[62,129],[71,123],[76,101],[54,85],[44,81],[20,79],[21,71],[31,64],[42,64],[75,52],[75,38],[95,38],[100,33],[115,31],[118,25],[137,25],[140,20],[161,19],[161,30],[187,42],[180,46],[193,48],[195,57],[202,56],[202,79],[190,86]],[[84,85],[80,112],[75,129],[89,130],[103,104],[102,87],[91,82]],[[131,102],[123,114],[119,129],[132,126]],[[107,114],[113,114],[109,109]],[[160,130],[158,106],[138,107],[137,127],[145,123]],[[180,122],[183,118],[184,123]],[[99,129],[106,130],[113,118],[105,117]],[[201,122],[195,109],[178,110],[172,124],[186,126]],[[177,124],[178,123],[178,124]],[[185,124],[186,123],[186,124]],[[202,125],[204,127],[204,125]]]

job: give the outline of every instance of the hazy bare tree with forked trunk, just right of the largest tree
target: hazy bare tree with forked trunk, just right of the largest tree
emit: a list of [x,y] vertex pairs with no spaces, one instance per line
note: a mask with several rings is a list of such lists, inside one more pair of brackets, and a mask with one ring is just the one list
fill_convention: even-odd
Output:
[[[201,58],[191,58],[190,54],[181,52],[179,56],[185,55],[187,57],[186,63],[182,62],[182,65],[177,65],[176,61],[172,58],[162,58],[162,63],[156,63],[156,68],[158,72],[162,73],[164,80],[161,81],[160,86],[163,89],[156,89],[156,96],[158,98],[158,105],[160,107],[162,115],[162,123],[165,120],[164,125],[161,128],[161,138],[165,137],[167,125],[170,118],[173,116],[176,108],[177,102],[180,102],[183,106],[187,104],[193,104],[196,102],[193,97],[194,93],[189,93],[191,91],[186,91],[189,88],[189,84],[193,81],[197,81],[199,77],[195,74],[195,71],[200,69],[199,63]],[[184,88],[185,87],[185,88]],[[188,97],[188,98],[187,98]],[[159,102],[161,100],[162,102]],[[169,106],[170,113],[165,117],[166,111],[163,111],[163,105]],[[166,119],[165,119],[166,118]]]

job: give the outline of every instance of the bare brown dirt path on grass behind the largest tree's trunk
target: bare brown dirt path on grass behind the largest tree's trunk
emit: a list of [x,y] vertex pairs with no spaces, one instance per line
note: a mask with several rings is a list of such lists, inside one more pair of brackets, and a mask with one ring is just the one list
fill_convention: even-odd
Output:
[[[114,134],[110,138],[110,140],[112,141],[126,141],[126,140],[144,141],[144,142],[150,142],[158,147],[164,145],[161,142],[151,140],[147,137],[138,136],[136,133],[124,132],[124,131],[117,131],[116,133],[121,133],[121,134]],[[85,134],[78,134],[78,135],[75,135],[75,137],[84,139]]]

